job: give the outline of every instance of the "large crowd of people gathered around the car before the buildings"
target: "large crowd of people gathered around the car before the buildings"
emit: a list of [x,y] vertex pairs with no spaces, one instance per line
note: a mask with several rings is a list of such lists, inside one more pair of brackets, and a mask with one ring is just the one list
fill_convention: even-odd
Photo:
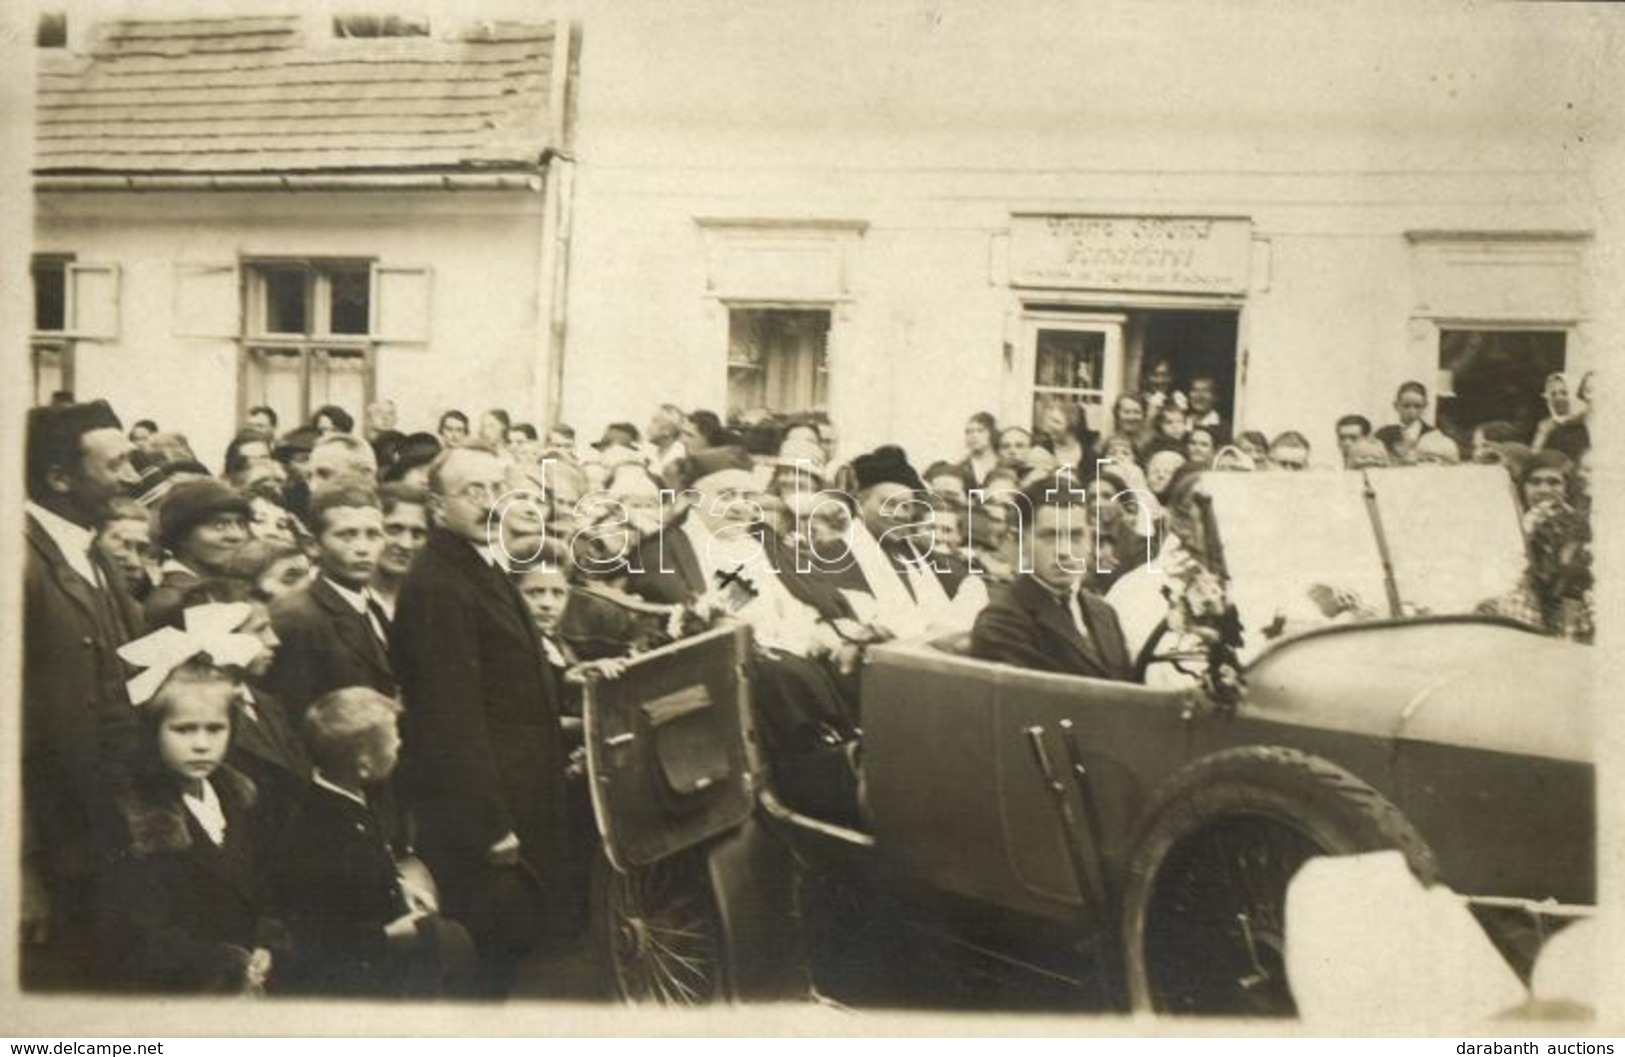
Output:
[[[36,408],[24,982],[507,994],[587,917],[582,688],[722,620],[754,633],[775,789],[861,826],[866,646],[1133,678],[1116,610],[1147,556],[1201,551],[1202,472],[1313,465],[1298,431],[1232,428],[1212,377],[1146,382],[1103,436],[1072,405],[972,415],[923,472],[842,459],[817,413],[663,405],[580,444],[502,410],[262,407],[211,465],[104,402]],[[1453,437],[1406,382],[1393,424],[1336,423],[1337,462],[1505,467],[1529,564],[1484,611],[1586,641],[1589,385]]]

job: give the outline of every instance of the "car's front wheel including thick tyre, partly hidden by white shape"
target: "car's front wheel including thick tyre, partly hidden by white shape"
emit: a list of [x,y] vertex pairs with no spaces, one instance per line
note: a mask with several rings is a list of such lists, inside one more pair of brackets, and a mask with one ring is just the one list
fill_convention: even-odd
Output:
[[1292,1016],[1287,883],[1313,855],[1396,849],[1432,885],[1427,842],[1383,794],[1320,756],[1248,746],[1175,774],[1123,873],[1138,1011]]

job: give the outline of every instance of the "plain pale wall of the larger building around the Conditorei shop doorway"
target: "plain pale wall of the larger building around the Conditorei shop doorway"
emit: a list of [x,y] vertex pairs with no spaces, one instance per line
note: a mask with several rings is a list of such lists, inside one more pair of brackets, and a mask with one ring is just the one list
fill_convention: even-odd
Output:
[[[1399,381],[1435,381],[1417,233],[1594,228],[1607,34],[1583,10],[783,15],[587,16],[564,382],[583,433],[661,400],[722,410],[718,220],[852,223],[832,410],[848,454],[895,439],[921,462],[957,450],[968,413],[1019,403],[1012,213],[1248,218],[1242,424],[1323,455],[1339,415],[1388,421]],[[1583,286],[1586,239],[1565,246],[1560,283]],[[1479,322],[1528,309],[1493,319],[1503,301]]]

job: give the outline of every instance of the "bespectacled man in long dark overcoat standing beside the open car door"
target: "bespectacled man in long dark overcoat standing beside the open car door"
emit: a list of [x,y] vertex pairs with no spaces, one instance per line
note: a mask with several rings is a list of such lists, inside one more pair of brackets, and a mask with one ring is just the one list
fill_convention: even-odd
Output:
[[505,491],[496,452],[463,446],[431,468],[429,543],[401,585],[392,659],[405,698],[401,790],[418,849],[463,922],[486,989],[566,922],[570,854],[561,691],[518,589],[486,537]]

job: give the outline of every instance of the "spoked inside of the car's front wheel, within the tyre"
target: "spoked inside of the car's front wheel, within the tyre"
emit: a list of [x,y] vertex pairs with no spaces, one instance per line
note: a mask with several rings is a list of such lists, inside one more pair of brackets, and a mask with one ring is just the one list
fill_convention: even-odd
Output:
[[1170,852],[1146,922],[1152,1005],[1170,1013],[1292,1016],[1287,881],[1329,849],[1264,816],[1216,820]]

